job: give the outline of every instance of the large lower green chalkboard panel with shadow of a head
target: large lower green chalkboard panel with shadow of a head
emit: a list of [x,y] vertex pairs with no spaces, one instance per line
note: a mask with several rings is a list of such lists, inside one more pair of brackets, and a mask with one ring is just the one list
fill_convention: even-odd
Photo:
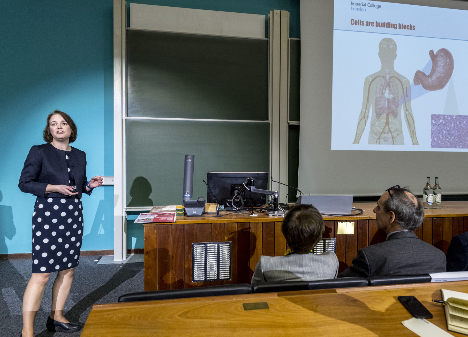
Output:
[[270,123],[126,119],[127,206],[180,205],[184,155],[195,155],[193,195],[208,171],[269,171]]

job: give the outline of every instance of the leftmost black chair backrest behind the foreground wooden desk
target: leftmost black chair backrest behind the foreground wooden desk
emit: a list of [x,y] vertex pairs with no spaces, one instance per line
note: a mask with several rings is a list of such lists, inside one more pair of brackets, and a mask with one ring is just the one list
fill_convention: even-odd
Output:
[[152,301],[184,299],[189,297],[241,295],[252,293],[252,287],[247,284],[212,285],[210,287],[158,290],[154,292],[130,292],[118,298],[118,302]]

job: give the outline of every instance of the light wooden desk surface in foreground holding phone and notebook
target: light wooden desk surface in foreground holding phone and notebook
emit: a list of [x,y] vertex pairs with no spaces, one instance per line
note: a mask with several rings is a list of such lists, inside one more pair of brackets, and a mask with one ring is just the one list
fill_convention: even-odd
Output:
[[[446,330],[443,306],[431,302],[441,288],[468,292],[468,281],[94,305],[81,337],[416,336],[397,297],[415,296]],[[252,302],[270,309],[244,311]]]

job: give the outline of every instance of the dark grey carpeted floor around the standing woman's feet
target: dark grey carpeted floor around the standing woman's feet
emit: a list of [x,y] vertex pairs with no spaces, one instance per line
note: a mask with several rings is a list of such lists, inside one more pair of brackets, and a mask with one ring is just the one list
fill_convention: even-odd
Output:
[[[96,265],[100,256],[80,257],[72,289],[65,303],[65,317],[80,322],[88,318],[91,306],[97,303],[115,303],[125,292],[143,291],[143,262]],[[19,336],[22,329],[22,297],[31,276],[31,260],[0,261],[0,336]],[[34,326],[35,336],[80,336],[75,333],[51,333],[45,321],[51,311],[52,284],[57,273],[52,273],[44,292],[42,305]]]

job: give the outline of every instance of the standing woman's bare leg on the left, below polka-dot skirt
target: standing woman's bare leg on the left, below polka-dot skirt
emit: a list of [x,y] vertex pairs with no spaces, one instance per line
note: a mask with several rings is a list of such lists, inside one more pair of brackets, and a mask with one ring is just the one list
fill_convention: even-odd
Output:
[[51,273],[32,273],[23,295],[22,337],[34,336],[34,321]]

